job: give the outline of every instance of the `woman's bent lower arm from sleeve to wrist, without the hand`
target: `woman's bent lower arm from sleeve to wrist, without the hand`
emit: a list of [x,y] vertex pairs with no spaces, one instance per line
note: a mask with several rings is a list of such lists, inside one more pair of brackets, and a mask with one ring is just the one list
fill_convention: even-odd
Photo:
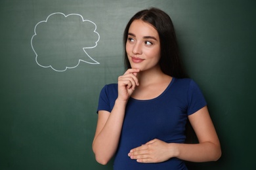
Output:
[[209,116],[207,107],[203,107],[188,116],[196,132],[199,144],[177,144],[177,158],[187,161],[217,161],[221,157],[221,144]]

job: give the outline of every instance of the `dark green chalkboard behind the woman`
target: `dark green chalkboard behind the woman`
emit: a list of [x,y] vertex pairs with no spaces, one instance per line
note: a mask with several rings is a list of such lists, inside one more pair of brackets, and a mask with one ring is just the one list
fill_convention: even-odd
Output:
[[1,0],[0,169],[112,169],[91,144],[98,95],[124,71],[122,33],[158,7],[207,99],[223,156],[196,169],[253,169],[256,1]]

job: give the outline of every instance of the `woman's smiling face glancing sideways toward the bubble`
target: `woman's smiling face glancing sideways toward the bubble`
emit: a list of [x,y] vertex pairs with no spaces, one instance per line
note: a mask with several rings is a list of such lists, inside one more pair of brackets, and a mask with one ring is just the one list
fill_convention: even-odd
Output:
[[159,67],[160,38],[158,31],[142,20],[134,20],[129,27],[126,52],[131,68],[146,71]]

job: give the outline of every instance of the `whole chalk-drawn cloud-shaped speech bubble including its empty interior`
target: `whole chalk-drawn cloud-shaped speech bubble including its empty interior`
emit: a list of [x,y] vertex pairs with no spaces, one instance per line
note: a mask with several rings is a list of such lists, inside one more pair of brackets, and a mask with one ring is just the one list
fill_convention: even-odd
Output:
[[[31,39],[37,65],[44,68],[51,67],[54,71],[61,72],[74,69],[81,61],[100,64],[87,52],[87,49],[95,48],[100,40],[96,28],[94,22],[84,20],[80,14],[65,15],[62,12],[50,14],[46,20],[35,25]],[[82,49],[83,52],[80,52]],[[78,54],[77,50],[79,50]]]

